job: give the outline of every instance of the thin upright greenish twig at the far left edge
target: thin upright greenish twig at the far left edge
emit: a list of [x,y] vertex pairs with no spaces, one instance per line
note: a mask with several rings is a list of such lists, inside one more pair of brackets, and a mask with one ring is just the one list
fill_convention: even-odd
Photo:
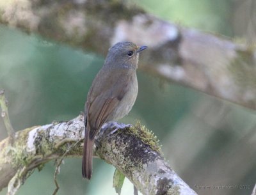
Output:
[[0,90],[0,106],[2,109],[1,116],[4,120],[4,125],[6,127],[8,136],[10,137],[11,141],[13,141],[14,130],[12,127],[12,123],[10,122],[7,103],[8,101],[4,97],[4,90]]

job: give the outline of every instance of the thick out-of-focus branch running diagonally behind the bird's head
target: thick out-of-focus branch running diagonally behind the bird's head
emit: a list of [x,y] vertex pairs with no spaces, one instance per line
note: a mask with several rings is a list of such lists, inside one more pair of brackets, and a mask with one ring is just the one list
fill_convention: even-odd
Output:
[[179,27],[125,1],[6,1],[0,22],[103,55],[122,40],[148,45],[141,70],[256,109],[254,46]]

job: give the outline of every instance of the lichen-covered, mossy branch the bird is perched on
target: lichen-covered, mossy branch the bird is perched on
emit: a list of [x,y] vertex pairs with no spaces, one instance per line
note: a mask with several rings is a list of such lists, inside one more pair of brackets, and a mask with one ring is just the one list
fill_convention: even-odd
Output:
[[[196,194],[168,166],[161,156],[156,137],[138,123],[135,127],[119,129],[108,123],[95,139],[94,153],[120,170],[142,194]],[[81,157],[83,116],[67,122],[31,127],[15,134],[11,146],[6,138],[0,142],[0,190],[8,185],[8,193],[15,194],[35,168],[45,162],[67,157]],[[76,144],[75,144],[76,143]]]

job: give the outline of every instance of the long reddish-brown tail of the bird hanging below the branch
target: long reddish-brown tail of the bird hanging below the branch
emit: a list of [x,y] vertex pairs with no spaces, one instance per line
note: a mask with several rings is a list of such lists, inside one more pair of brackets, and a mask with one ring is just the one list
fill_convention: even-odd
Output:
[[82,175],[83,178],[87,178],[88,180],[90,180],[92,176],[93,142],[93,139],[90,139],[88,130],[85,130]]

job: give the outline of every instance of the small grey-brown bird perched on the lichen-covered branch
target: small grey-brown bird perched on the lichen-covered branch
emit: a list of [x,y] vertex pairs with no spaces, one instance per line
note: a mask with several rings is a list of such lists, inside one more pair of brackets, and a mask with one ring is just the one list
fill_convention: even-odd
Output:
[[119,42],[111,47],[99,73],[92,82],[84,107],[84,152],[82,174],[92,176],[94,137],[108,121],[123,118],[131,111],[138,94],[136,69],[139,54],[147,46]]

